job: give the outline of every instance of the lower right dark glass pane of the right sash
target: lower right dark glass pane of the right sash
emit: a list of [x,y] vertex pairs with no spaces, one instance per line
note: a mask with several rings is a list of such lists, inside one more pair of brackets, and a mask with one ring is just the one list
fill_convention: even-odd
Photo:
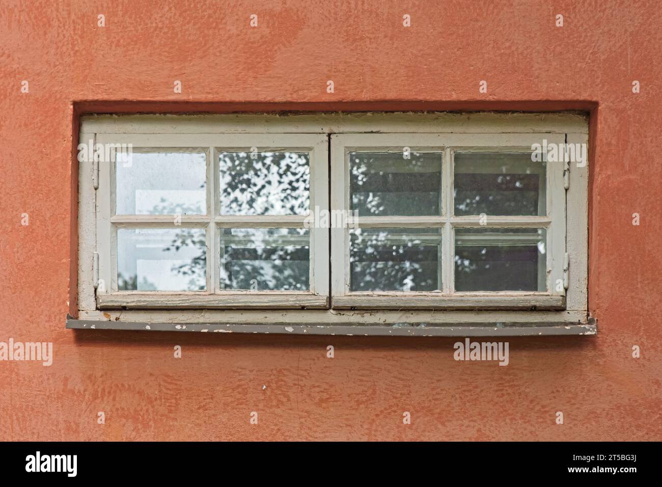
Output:
[[545,229],[455,229],[455,291],[547,290]]

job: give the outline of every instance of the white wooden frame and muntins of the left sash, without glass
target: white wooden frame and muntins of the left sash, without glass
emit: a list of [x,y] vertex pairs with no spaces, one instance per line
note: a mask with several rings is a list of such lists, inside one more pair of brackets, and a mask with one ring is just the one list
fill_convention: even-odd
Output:
[[[310,163],[310,206],[328,209],[328,140],[314,134],[164,135],[99,134],[97,144],[132,144],[134,152],[204,152],[207,158],[206,215],[116,215],[115,154],[99,163],[97,253],[99,309],[235,309],[328,307],[328,232],[310,228],[310,289],[307,292],[219,289],[222,228],[304,228],[307,215],[221,215],[218,209],[218,153],[307,152]],[[177,216],[177,226],[175,226]],[[204,228],[207,241],[207,290],[190,292],[118,291],[117,229]]]

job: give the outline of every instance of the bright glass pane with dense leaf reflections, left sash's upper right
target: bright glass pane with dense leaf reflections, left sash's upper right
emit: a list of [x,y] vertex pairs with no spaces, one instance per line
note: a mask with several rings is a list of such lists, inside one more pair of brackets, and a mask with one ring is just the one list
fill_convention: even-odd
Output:
[[310,161],[303,152],[219,152],[221,215],[306,215]]

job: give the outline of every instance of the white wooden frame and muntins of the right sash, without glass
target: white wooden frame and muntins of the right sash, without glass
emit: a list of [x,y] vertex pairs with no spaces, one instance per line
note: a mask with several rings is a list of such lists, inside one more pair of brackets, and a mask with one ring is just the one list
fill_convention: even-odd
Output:
[[[442,232],[443,289],[437,292],[350,292],[350,228],[332,230],[332,307],[335,309],[565,309],[563,258],[565,255],[565,188],[563,162],[548,162],[546,214],[542,216],[453,215],[453,156],[457,152],[523,152],[532,144],[563,144],[565,135],[518,134],[334,134],[331,135],[331,207],[350,211],[350,152],[440,152],[442,160],[442,214],[439,216],[361,216],[359,228],[440,228]],[[545,292],[455,292],[455,229],[544,228],[547,231]]]

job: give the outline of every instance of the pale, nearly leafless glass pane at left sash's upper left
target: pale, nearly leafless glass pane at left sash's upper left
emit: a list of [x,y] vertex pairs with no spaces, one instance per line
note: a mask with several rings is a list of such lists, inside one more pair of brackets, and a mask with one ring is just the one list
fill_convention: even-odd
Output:
[[207,213],[205,152],[133,152],[115,167],[117,215]]

